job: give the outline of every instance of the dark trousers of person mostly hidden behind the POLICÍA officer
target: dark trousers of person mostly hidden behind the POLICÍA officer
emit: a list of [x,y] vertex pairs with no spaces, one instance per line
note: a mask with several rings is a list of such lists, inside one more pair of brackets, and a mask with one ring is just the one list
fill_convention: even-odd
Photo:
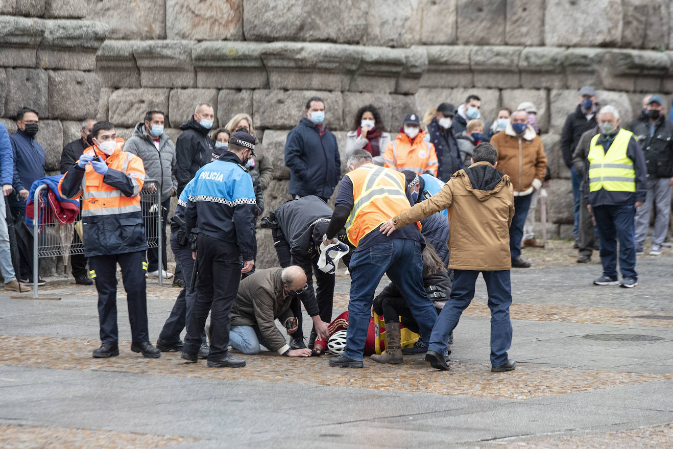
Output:
[[[194,298],[199,294],[199,290],[194,288],[190,292],[189,287],[192,283],[192,271],[194,269],[194,259],[192,258],[191,246],[178,245],[178,232],[170,234],[170,248],[173,250],[175,256],[176,266],[182,269],[182,279],[184,279],[184,288],[180,290],[178,298],[175,300],[170,316],[164,323],[159,340],[165,345],[170,345],[180,341],[180,333],[185,325],[189,323],[189,318],[192,315],[192,305]],[[149,270],[148,270],[149,271]],[[205,331],[201,333],[201,341],[206,343]]]

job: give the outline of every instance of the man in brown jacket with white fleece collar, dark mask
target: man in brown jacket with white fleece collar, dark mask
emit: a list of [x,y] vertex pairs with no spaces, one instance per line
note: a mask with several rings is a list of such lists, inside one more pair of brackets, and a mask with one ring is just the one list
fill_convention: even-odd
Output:
[[539,191],[546,172],[546,156],[542,140],[528,125],[528,112],[516,110],[505,131],[491,138],[491,145],[498,151],[499,169],[509,175],[514,189],[514,219],[509,227],[509,252],[511,266],[528,268],[530,263],[521,258],[521,238],[530,207],[533,191]]

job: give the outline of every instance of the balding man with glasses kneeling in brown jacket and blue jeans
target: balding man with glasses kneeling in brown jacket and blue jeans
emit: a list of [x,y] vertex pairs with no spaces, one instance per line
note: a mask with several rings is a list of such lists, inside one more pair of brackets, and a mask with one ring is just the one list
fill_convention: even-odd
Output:
[[232,307],[229,344],[244,354],[256,354],[260,344],[287,357],[309,357],[308,348],[291,349],[275,320],[292,335],[299,329],[292,300],[308,289],[302,267],[259,270],[241,281]]

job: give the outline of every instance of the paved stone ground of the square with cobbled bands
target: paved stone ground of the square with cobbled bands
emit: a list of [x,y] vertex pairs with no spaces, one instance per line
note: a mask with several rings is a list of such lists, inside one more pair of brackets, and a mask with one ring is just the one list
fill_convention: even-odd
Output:
[[[270,353],[236,370],[182,364],[177,353],[143,359],[129,350],[122,294],[121,354],[92,359],[94,288],[50,279],[40,295],[59,301],[2,294],[0,446],[672,446],[673,251],[639,258],[631,290],[594,287],[598,255],[579,265],[569,242],[524,258],[534,267],[512,272],[517,369],[503,374],[489,370],[481,281],[456,328],[450,372],[421,356],[400,366],[365,361],[363,370]],[[348,291],[340,275],[335,314]],[[177,293],[149,282],[153,339]]]

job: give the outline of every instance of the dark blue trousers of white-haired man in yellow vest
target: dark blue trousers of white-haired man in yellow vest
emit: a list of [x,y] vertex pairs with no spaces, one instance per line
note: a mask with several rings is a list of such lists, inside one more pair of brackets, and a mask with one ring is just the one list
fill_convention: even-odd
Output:
[[600,263],[603,274],[617,277],[617,240],[619,241],[619,270],[622,277],[638,279],[635,272],[635,236],[633,219],[635,207],[596,206],[592,208],[600,238]]

